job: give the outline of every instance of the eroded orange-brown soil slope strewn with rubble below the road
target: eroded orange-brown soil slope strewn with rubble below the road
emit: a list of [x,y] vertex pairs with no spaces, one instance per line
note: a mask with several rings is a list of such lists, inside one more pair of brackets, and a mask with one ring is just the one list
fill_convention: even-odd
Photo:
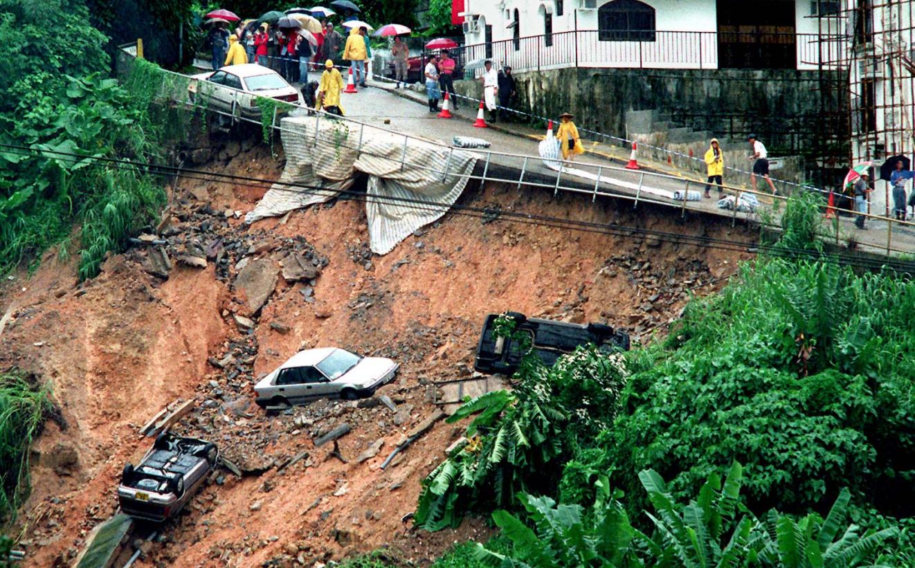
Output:
[[[279,174],[258,149],[210,167]],[[167,244],[137,244],[81,285],[74,267],[49,253],[37,273],[4,284],[0,305],[13,303],[15,317],[0,338],[0,364],[51,381],[66,423],[48,422],[35,447],[35,489],[19,523],[30,565],[69,564],[115,511],[124,463],[151,444],[138,429],[167,403],[192,398],[178,432],[220,444],[243,476],[214,476],[138,565],[312,565],[381,546],[428,563],[487,531],[471,520],[429,535],[402,520],[460,431],[438,422],[392,466],[380,464],[436,411],[430,383],[469,374],[483,316],[606,321],[648,340],[688,295],[714,292],[739,261],[736,252],[458,214],[377,257],[358,200],[247,227],[234,211],[251,209],[263,189],[179,178],[171,193],[170,221],[156,235]],[[719,220],[683,223],[664,211],[513,187],[468,188],[461,202],[752,240]],[[160,251],[170,259],[167,278],[151,258]],[[307,270],[289,270],[293,261]],[[266,299],[254,310],[258,295]],[[401,362],[399,380],[381,391],[396,411],[371,399],[266,416],[253,404],[257,377],[299,348],[332,345]],[[339,440],[348,463],[312,443],[340,423],[352,428]],[[303,450],[307,457],[278,472]]]

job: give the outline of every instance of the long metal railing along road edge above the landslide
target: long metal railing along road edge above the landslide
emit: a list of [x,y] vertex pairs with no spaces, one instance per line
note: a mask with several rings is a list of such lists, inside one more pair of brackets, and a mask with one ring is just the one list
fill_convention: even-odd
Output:
[[[188,86],[191,84],[192,79],[190,77],[188,77],[187,75],[176,73],[174,71],[161,70],[161,72],[163,73],[163,83],[162,83],[162,91],[160,91],[160,93],[159,93],[160,98],[167,100],[168,102],[175,102],[175,103],[187,106],[188,108],[193,108],[195,103],[191,102],[187,96]],[[169,79],[166,80],[166,78],[169,78]],[[231,104],[228,105],[229,108],[227,108],[227,109],[208,108],[207,110],[209,112],[217,113],[220,116],[227,119],[228,121],[230,121],[231,123],[242,123],[242,122],[255,123],[255,124],[262,123],[261,120],[256,120],[251,117],[244,116],[240,112],[242,105],[239,102],[239,93],[243,93],[243,91],[237,91],[237,90],[231,89],[229,87],[223,87],[223,88],[229,89],[230,91],[232,91]],[[243,94],[244,94],[244,96],[250,97],[250,93],[243,93]],[[518,190],[520,190],[522,188],[522,186],[532,187],[532,188],[544,188],[544,189],[552,190],[554,195],[558,194],[558,192],[560,190],[562,190],[564,192],[590,196],[592,202],[596,201],[597,197],[625,199],[625,200],[629,200],[632,202],[633,209],[636,209],[640,203],[650,203],[650,204],[654,204],[654,205],[661,205],[664,207],[673,207],[674,209],[680,209],[681,215],[685,215],[686,209],[690,209],[694,212],[701,212],[701,213],[706,213],[706,214],[707,213],[716,214],[714,211],[709,211],[708,209],[705,209],[702,207],[697,207],[696,203],[701,203],[701,201],[696,202],[696,201],[688,201],[687,199],[685,199],[685,196],[688,194],[688,192],[690,190],[698,190],[700,188],[705,187],[705,181],[701,180],[701,179],[691,179],[688,177],[669,176],[666,174],[660,174],[660,173],[646,171],[646,170],[640,170],[633,174],[632,170],[629,170],[629,169],[626,169],[623,167],[618,167],[618,166],[576,163],[576,164],[574,164],[574,166],[577,169],[594,172],[597,175],[597,181],[593,183],[593,187],[587,187],[587,185],[583,182],[583,180],[579,181],[575,185],[572,185],[568,182],[563,183],[565,181],[563,178],[563,174],[565,173],[566,176],[568,176],[568,170],[565,169],[565,167],[560,169],[559,171],[547,170],[546,173],[544,173],[543,170],[538,171],[537,173],[540,176],[549,175],[549,172],[554,171],[555,179],[551,180],[547,183],[543,183],[543,182],[533,181],[530,177],[526,177],[526,175],[528,175],[530,172],[529,166],[532,163],[539,164],[539,163],[542,163],[545,161],[544,158],[539,155],[512,154],[512,153],[494,152],[491,150],[474,149],[474,148],[455,148],[455,147],[448,146],[448,145],[442,145],[434,140],[430,140],[430,139],[422,137],[422,136],[416,136],[413,134],[404,134],[402,132],[397,132],[397,131],[394,131],[389,128],[384,128],[382,126],[377,126],[377,125],[370,124],[370,123],[362,123],[362,122],[354,120],[354,119],[342,117],[337,114],[325,113],[324,111],[312,109],[312,108],[309,108],[304,105],[299,105],[299,104],[294,104],[294,103],[288,103],[288,104],[289,104],[289,106],[295,107],[296,109],[298,109],[301,112],[311,113],[316,116],[316,119],[315,119],[316,120],[316,124],[315,124],[316,139],[313,141],[314,145],[320,144],[320,141],[318,140],[318,135],[320,132],[319,125],[322,120],[331,121],[332,123],[346,124],[347,135],[344,136],[343,139],[339,141],[339,144],[341,147],[346,147],[348,149],[355,150],[356,152],[359,152],[359,153],[364,153],[364,152],[371,153],[371,151],[366,150],[363,147],[363,140],[365,139],[365,133],[367,130],[374,130],[377,132],[393,134],[397,138],[404,139],[403,152],[401,154],[401,159],[399,160],[402,168],[405,166],[410,166],[410,167],[417,168],[419,170],[434,172],[434,173],[436,173],[436,176],[442,177],[443,180],[447,179],[448,177],[458,177],[458,178],[467,178],[468,180],[476,179],[476,180],[479,180],[480,182],[496,182],[496,183],[516,185]],[[272,129],[274,129],[277,132],[290,132],[290,133],[295,133],[295,134],[302,134],[300,130],[286,128],[285,126],[283,126],[279,122],[279,118],[280,118],[280,116],[278,114],[277,107],[274,107],[274,114],[271,117],[271,128]],[[355,133],[357,131],[358,131],[358,137],[355,136]],[[350,134],[352,136],[350,136]],[[356,142],[355,144],[348,144],[348,141],[350,141],[350,137],[355,138],[356,140],[358,140],[358,142]],[[397,138],[395,138],[395,139],[397,139]],[[442,164],[442,166],[440,168],[433,167],[433,166],[425,166],[424,164],[421,164],[421,163],[411,162],[408,159],[408,155],[409,155],[408,146],[411,144],[411,142],[413,145],[439,146],[442,149],[443,153],[447,153],[447,159],[444,160],[444,163]],[[482,173],[480,175],[477,175],[474,173],[474,171],[470,171],[467,174],[463,174],[463,173],[460,173],[457,171],[450,171],[449,165],[451,164],[451,161],[452,161],[450,159],[450,157],[456,151],[471,154],[471,155],[476,155],[478,160],[483,161],[483,163],[484,163]],[[374,154],[374,156],[377,156],[377,157],[383,158],[383,159],[390,159],[390,156],[386,155],[386,154]],[[517,164],[517,162],[521,159],[523,165],[521,167],[519,176],[518,177],[494,176],[491,173],[492,168],[490,166],[499,165],[500,158],[502,159],[502,164],[504,164],[505,158],[508,158],[509,160],[513,161],[515,164]],[[504,167],[502,169],[504,170]],[[606,181],[602,181],[602,178],[601,178],[602,176],[613,175],[613,173],[617,173],[620,176],[626,176],[626,177],[632,177],[634,175],[638,176],[638,187],[635,189],[634,195],[622,190],[622,188],[628,188],[628,186],[636,185],[634,182],[627,183],[625,185],[619,185],[618,189],[613,189],[613,188],[609,188],[608,186],[614,186],[615,185],[614,183],[612,183],[612,182],[608,183]],[[651,187],[651,180],[664,180],[668,183],[673,181],[677,184],[682,184],[682,187],[683,187],[682,194],[684,195],[684,198],[683,199],[673,199],[673,198],[660,198],[657,196],[652,196],[651,193],[647,193],[647,191],[646,191],[646,188]],[[588,182],[588,183],[590,183],[590,182]],[[296,186],[296,184],[285,184],[282,182],[276,182],[274,184],[274,187],[276,187],[276,186],[280,186],[280,187],[287,186],[288,187],[287,190],[289,190],[289,191],[306,192],[306,193],[308,193],[308,192],[326,192],[327,191],[326,189],[301,188],[299,186]],[[735,187],[731,187],[731,186],[724,186],[724,188],[728,192],[731,192],[731,193],[735,194],[736,196],[739,196],[740,194],[751,194],[751,195],[758,196],[759,201],[760,201],[760,207],[765,207],[769,204],[773,204],[776,201],[780,201],[781,202],[780,208],[783,208],[785,202],[788,199],[788,197],[786,197],[786,196],[773,196],[770,193],[766,193],[766,192],[762,192],[762,191],[753,191],[750,189],[735,188]],[[737,199],[735,201],[737,201]],[[737,203],[735,203],[735,205],[737,205]],[[423,208],[436,207],[435,204],[429,204],[425,201],[422,204],[417,204],[417,207],[420,207],[420,206]],[[441,207],[447,209],[447,206],[445,206],[445,205],[443,205]],[[768,216],[760,217],[756,213],[757,213],[757,211],[738,212],[737,208],[735,207],[734,209],[730,210],[728,215],[732,219],[732,221],[731,221],[732,225],[736,224],[737,217],[739,216],[743,220],[755,220],[755,221],[759,222],[760,224],[769,226],[770,228],[775,228],[775,229],[779,228],[778,220],[775,219],[774,216],[772,216],[771,219],[766,219],[766,217],[768,217]],[[879,250],[880,252],[885,251],[887,255],[890,255],[893,252],[910,253],[909,250],[900,249],[898,246],[893,246],[892,230],[893,230],[894,223],[897,225],[897,227],[909,227],[909,228],[915,229],[915,222],[895,220],[892,218],[874,215],[874,214],[870,214],[870,213],[863,213],[860,215],[862,215],[863,217],[865,217],[866,219],[869,219],[869,220],[886,221],[888,223],[888,225],[887,225],[887,244],[884,247],[882,245],[876,245],[876,244],[870,244],[870,243],[858,241],[856,243],[857,246],[871,247],[871,248]],[[840,223],[835,222],[833,224],[834,231],[832,233],[827,234],[826,232],[821,232],[819,236],[824,240],[833,240],[834,239],[836,244],[838,244],[842,238],[842,236],[840,235],[840,232],[839,232],[839,225],[840,225]]]

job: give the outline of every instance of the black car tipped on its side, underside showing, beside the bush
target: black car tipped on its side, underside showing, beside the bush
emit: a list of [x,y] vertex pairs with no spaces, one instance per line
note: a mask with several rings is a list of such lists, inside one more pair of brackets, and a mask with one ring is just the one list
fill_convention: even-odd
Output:
[[[523,353],[522,348],[511,338],[496,337],[494,328],[500,316],[501,314],[486,316],[473,367],[482,373],[511,375],[518,369]],[[608,353],[628,351],[630,348],[629,334],[605,324],[568,324],[536,317],[528,318],[518,312],[508,312],[505,316],[514,320],[515,329],[530,334],[533,354],[547,366],[552,366],[556,359],[588,343],[593,343],[598,349]]]

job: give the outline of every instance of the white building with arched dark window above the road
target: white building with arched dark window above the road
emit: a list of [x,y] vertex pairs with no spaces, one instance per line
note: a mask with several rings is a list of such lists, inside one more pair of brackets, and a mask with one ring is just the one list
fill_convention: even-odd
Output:
[[578,67],[817,70],[838,0],[455,0],[469,59]]

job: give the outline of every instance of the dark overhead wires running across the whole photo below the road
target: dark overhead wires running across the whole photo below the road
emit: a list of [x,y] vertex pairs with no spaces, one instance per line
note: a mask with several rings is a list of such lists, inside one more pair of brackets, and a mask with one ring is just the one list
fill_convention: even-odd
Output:
[[[528,224],[538,227],[548,227],[554,229],[579,230],[589,233],[604,235],[620,236],[630,238],[633,235],[640,237],[653,236],[662,241],[674,242],[678,244],[690,244],[706,248],[714,248],[731,252],[768,252],[776,256],[788,256],[798,259],[815,260],[827,263],[836,263],[844,266],[864,268],[867,270],[879,270],[889,268],[891,270],[903,273],[915,272],[915,265],[912,263],[897,261],[893,259],[867,259],[861,257],[851,257],[845,254],[820,252],[809,249],[797,249],[784,247],[777,244],[753,243],[744,241],[735,241],[703,235],[688,235],[678,232],[662,231],[656,229],[647,229],[634,227],[630,225],[620,225],[616,223],[598,223],[595,221],[563,219],[549,215],[540,215],[527,213],[523,211],[513,211],[511,209],[476,207],[468,204],[455,203],[451,206],[430,203],[423,199],[400,198],[395,196],[370,196],[364,192],[352,189],[329,189],[320,188],[296,182],[278,182],[270,179],[258,177],[245,177],[222,172],[211,172],[206,170],[190,169],[187,167],[167,166],[154,164],[152,162],[128,160],[123,158],[112,158],[97,155],[85,155],[75,152],[64,152],[59,150],[50,150],[47,148],[34,148],[25,145],[10,145],[0,143],[0,148],[5,148],[17,155],[42,155],[50,154],[63,156],[59,159],[69,162],[80,162],[90,159],[96,164],[107,164],[118,169],[142,168],[149,173],[160,176],[179,175],[189,179],[207,181],[211,183],[248,185],[258,188],[273,188],[276,191],[286,191],[294,194],[315,194],[334,191],[339,197],[348,198],[365,203],[388,203],[400,204],[411,209],[420,209],[435,212],[451,211],[455,214],[474,217],[478,219],[507,219],[512,222]],[[276,187],[283,186],[283,187]]]

